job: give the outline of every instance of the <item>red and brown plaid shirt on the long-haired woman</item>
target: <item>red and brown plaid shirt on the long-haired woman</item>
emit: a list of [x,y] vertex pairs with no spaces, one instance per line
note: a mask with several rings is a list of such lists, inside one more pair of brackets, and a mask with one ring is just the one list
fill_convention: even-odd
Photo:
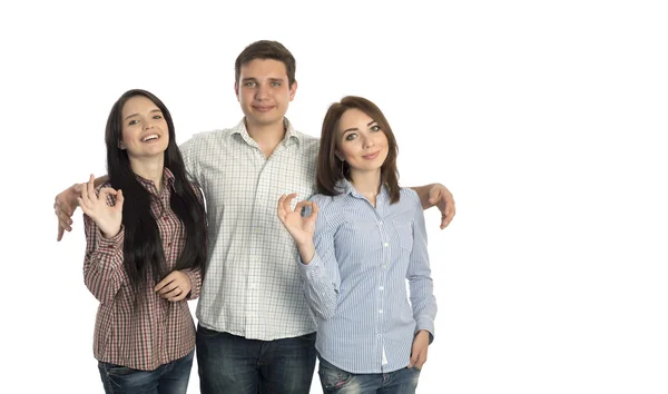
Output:
[[[168,272],[185,245],[185,228],[169,207],[174,175],[165,168],[164,185],[158,193],[153,181],[137,176],[151,194],[150,209],[156,219]],[[110,187],[105,184],[97,188]],[[199,190],[197,189],[197,195]],[[132,198],[127,196],[126,198]],[[114,205],[115,198],[109,196]],[[144,289],[140,311],[132,313],[134,290],[124,268],[122,247],[125,229],[112,238],[105,238],[95,221],[84,215],[86,229],[86,286],[100,302],[95,324],[94,354],[101,362],[135,370],[153,371],[161,364],[187,355],[195,347],[195,324],[187,299],[199,296],[199,269],[184,270],[190,279],[191,292],[180,302],[168,302],[153,292],[153,277]]]

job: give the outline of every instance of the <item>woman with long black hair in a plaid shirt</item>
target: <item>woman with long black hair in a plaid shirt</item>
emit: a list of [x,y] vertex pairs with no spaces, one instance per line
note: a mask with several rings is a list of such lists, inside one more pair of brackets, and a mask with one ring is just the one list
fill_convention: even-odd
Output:
[[187,301],[206,259],[206,216],[156,96],[134,89],[111,108],[108,181],[84,185],[86,286],[100,302],[94,354],[107,393],[186,393],[195,348]]

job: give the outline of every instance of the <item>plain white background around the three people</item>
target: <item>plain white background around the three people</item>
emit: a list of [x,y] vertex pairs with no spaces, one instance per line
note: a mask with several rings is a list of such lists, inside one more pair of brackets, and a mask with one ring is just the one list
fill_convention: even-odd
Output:
[[318,136],[332,101],[365,96],[395,130],[401,183],[455,195],[445,230],[426,213],[439,314],[419,393],[668,392],[661,1],[10,3],[3,393],[102,392],[81,213],[56,243],[51,206],[106,173],[114,101],[156,93],[179,142],[234,126],[234,60],[258,39],[297,59],[297,129]]

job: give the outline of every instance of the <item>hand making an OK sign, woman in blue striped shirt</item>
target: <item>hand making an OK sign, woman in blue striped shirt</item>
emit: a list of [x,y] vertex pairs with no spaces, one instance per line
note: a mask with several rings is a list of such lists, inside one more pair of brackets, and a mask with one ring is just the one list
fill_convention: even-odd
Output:
[[[278,199],[278,219],[287,229],[289,235],[295,239],[297,245],[313,243],[313,234],[315,233],[315,221],[317,219],[317,204],[313,201],[299,201],[293,210],[289,203],[297,197],[296,193],[283,195]],[[302,209],[311,207],[311,215],[303,217]]]

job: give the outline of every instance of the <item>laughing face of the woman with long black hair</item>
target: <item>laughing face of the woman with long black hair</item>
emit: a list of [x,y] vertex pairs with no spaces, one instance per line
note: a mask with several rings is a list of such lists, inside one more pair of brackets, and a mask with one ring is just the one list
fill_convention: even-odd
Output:
[[169,145],[169,129],[163,111],[150,99],[135,96],[126,101],[121,111],[122,140],[130,158],[163,155]]

